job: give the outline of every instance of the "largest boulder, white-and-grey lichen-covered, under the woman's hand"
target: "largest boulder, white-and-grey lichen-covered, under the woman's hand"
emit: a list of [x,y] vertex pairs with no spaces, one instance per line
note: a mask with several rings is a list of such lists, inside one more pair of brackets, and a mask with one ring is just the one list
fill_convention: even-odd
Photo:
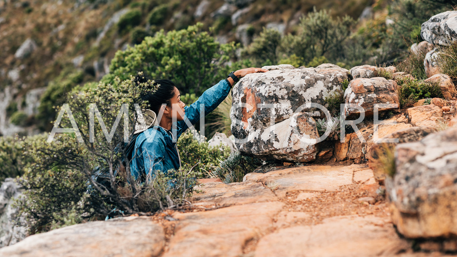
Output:
[[[308,162],[319,138],[312,115],[347,79],[344,68],[287,68],[252,73],[233,89],[232,134],[239,151],[263,159]],[[309,113],[314,112],[314,113]],[[273,124],[274,123],[274,124]]]

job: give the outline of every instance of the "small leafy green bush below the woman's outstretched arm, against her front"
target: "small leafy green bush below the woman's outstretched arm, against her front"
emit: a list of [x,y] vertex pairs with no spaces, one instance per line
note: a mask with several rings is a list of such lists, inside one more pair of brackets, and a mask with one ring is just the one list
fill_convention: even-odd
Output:
[[230,154],[228,147],[208,147],[208,142],[199,143],[191,131],[182,134],[178,139],[181,163],[189,167],[197,165],[194,170],[203,174],[212,174],[221,160],[225,160]]

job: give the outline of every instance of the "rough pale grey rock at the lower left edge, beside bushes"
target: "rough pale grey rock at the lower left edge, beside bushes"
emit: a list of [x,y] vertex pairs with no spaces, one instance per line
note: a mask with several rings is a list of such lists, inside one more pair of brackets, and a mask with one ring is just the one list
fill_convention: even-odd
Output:
[[26,237],[26,220],[18,216],[18,208],[12,206],[13,198],[20,196],[15,179],[6,178],[0,187],[0,247],[11,246]]

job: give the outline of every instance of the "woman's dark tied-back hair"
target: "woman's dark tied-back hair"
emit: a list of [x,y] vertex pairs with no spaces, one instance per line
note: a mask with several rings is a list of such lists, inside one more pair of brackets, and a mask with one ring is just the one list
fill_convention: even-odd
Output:
[[[149,75],[138,74],[133,82],[135,84],[147,83],[148,80],[152,80]],[[157,79],[154,81],[153,85],[159,85],[159,88],[154,92],[148,92],[141,95],[141,99],[148,101],[150,109],[155,112],[156,115],[159,115],[160,106],[166,104],[167,106],[171,105],[171,98],[175,96],[175,83],[168,79]]]

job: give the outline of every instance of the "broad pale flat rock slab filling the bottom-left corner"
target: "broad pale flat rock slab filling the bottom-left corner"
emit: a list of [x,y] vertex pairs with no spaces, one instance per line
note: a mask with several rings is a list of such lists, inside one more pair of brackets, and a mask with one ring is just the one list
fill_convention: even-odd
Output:
[[8,257],[155,257],[165,243],[162,226],[149,217],[91,221],[28,236],[0,249]]

